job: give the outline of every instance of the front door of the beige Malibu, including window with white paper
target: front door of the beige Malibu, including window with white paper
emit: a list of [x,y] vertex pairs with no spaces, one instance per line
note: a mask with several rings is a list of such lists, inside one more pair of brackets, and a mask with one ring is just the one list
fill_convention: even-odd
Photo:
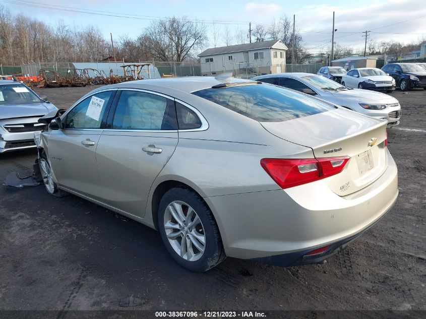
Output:
[[48,138],[57,184],[96,200],[103,197],[96,148],[114,94],[115,90],[98,92],[77,103],[64,114],[63,129],[51,131]]

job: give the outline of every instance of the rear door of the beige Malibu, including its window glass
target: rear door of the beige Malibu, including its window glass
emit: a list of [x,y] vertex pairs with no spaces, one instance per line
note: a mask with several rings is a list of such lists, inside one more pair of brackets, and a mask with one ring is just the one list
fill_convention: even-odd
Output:
[[143,217],[151,185],[178,142],[175,102],[136,89],[117,97],[96,149],[103,202]]

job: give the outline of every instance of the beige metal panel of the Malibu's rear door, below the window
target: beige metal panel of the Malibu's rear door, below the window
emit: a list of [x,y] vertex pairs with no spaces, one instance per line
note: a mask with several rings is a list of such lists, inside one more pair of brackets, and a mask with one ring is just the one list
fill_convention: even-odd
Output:
[[[155,177],[177,145],[177,132],[104,131],[96,162],[105,204],[144,217],[146,200]],[[161,149],[161,153],[143,148]]]

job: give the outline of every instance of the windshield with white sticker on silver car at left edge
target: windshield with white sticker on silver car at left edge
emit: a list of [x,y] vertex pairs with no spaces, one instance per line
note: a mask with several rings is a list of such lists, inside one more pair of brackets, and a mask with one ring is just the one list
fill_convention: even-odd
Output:
[[33,104],[41,100],[22,84],[0,85],[0,105]]

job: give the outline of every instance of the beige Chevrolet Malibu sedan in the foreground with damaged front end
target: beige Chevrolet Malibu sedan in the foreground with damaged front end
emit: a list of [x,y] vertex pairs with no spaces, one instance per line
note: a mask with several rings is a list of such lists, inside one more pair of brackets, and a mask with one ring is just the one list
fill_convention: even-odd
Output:
[[181,266],[320,263],[395,203],[386,122],[255,81],[127,82],[35,136],[47,192],[160,231]]

